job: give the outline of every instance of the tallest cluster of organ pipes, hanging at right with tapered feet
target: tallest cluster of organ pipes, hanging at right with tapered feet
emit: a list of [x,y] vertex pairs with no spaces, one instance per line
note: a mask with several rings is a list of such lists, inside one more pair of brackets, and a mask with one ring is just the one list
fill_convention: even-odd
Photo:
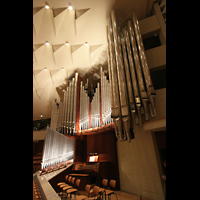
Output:
[[[148,68],[140,28],[135,11],[122,28],[115,11],[107,26],[108,71],[111,84],[111,107],[116,137],[131,142],[136,124],[142,126],[142,111],[145,120],[156,116],[155,91]],[[144,78],[143,78],[144,77]]]

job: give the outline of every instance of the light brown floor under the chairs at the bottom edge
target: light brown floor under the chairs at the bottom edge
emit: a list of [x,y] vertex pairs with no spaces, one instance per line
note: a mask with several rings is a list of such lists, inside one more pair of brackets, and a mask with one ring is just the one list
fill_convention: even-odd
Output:
[[[122,192],[122,191],[116,191],[115,192],[117,194],[117,200],[150,200],[150,199],[147,199],[145,197],[141,197],[138,196],[138,195],[134,195],[134,194],[130,194],[130,193],[127,193],[127,192]],[[84,191],[79,191],[79,194],[80,195],[86,195]],[[80,198],[78,198],[78,195],[76,195],[76,200],[80,200]],[[62,198],[62,199],[66,199],[66,200],[70,200],[69,196],[67,198]],[[72,195],[72,198],[71,200],[74,200],[74,195]],[[93,199],[93,198],[91,198]],[[103,200],[105,199],[105,196],[103,198]],[[108,200],[108,197],[106,197],[106,200]],[[115,195],[111,195],[111,198],[110,200],[116,200],[116,196]]]

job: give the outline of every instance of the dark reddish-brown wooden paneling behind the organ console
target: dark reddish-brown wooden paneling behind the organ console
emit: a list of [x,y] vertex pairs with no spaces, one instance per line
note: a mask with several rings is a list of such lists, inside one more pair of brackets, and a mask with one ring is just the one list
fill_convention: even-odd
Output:
[[110,177],[108,179],[115,179],[117,181],[116,189],[119,190],[118,158],[114,129],[89,135],[77,135],[75,144],[75,162],[87,162],[89,153],[97,153],[99,162],[110,162],[110,170],[108,169]]

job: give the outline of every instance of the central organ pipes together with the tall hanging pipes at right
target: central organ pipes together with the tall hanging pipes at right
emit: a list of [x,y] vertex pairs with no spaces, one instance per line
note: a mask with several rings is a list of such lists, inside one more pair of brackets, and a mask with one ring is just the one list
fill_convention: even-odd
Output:
[[[100,81],[89,97],[89,83],[75,73],[64,91],[63,101],[54,102],[52,130],[74,136],[83,130],[103,127],[114,122],[120,141],[134,138],[136,125],[142,126],[144,115],[156,117],[155,90],[148,68],[138,19],[131,19],[120,28],[115,11],[107,26],[108,74],[100,68]],[[91,86],[93,87],[93,86]]]

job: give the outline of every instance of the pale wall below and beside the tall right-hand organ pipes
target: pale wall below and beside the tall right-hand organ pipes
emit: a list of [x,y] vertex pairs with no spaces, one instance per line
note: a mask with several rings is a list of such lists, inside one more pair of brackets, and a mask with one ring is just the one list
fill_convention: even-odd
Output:
[[120,189],[152,200],[163,200],[162,172],[153,132],[166,130],[166,88],[156,90],[157,117],[137,126],[135,138],[117,142]]

